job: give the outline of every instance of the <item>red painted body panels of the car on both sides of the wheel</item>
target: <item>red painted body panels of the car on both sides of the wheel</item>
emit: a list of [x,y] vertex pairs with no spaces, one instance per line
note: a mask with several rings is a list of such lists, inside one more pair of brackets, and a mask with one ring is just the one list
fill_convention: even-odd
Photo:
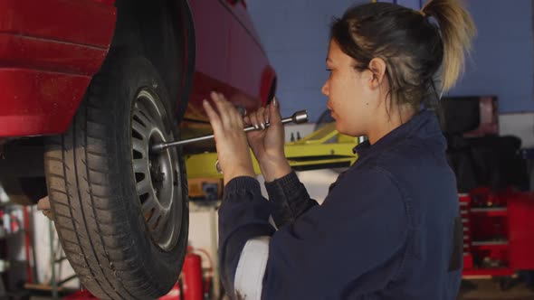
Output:
[[[0,0],[0,142],[67,130],[110,50],[117,21],[114,4]],[[192,24],[185,27],[189,38],[184,42],[194,51],[179,60],[194,69],[184,70],[188,79],[176,82],[185,87],[192,80],[184,98],[186,119],[205,120],[200,104],[214,89],[246,109],[272,97],[275,72],[244,2],[190,0],[188,13]],[[182,101],[176,99],[176,117],[184,114]]]

